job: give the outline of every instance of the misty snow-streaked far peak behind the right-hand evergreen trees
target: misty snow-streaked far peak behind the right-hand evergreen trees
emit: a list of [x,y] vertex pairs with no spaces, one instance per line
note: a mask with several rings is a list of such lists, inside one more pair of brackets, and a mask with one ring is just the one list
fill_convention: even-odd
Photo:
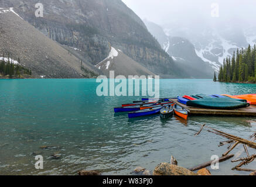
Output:
[[189,39],[196,49],[197,56],[219,71],[224,58],[233,56],[234,51],[248,47],[248,44],[255,44],[255,27],[241,29],[242,27],[238,23],[221,22],[200,26],[171,24],[165,26],[165,33]]

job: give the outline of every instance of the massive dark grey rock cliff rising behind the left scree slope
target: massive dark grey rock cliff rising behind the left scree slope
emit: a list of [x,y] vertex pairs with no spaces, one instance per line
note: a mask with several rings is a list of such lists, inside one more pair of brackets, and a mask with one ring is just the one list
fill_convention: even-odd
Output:
[[43,18],[36,18],[33,0],[0,2],[14,7],[50,39],[78,49],[91,64],[104,60],[115,47],[156,74],[178,75],[172,58],[121,0],[45,0],[43,5]]

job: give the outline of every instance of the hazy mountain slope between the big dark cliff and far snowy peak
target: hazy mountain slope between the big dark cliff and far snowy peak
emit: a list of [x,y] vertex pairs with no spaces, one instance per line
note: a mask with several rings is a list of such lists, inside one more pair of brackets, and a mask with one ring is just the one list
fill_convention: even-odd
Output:
[[212,67],[207,60],[197,56],[194,45],[184,37],[168,36],[162,27],[144,20],[149,32],[156,37],[163,50],[169,54],[178,67],[190,78],[212,78],[219,67]]

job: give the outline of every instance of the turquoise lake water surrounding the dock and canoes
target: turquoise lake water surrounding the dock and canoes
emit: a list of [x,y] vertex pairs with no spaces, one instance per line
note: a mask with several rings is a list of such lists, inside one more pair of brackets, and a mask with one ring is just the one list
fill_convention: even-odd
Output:
[[[2,79],[0,80],[0,174],[74,175],[80,169],[103,174],[129,175],[141,166],[153,171],[173,155],[182,167],[193,167],[221,155],[226,138],[200,125],[248,139],[256,131],[256,118],[178,117],[161,120],[158,115],[128,120],[127,113],[113,108],[141,97],[96,95],[95,79]],[[254,84],[225,84],[208,79],[161,79],[161,97],[196,93],[256,93]],[[42,150],[41,146],[53,146]],[[237,153],[238,146],[231,153]],[[250,154],[255,150],[248,149]],[[62,154],[59,160],[50,156]],[[44,169],[35,169],[35,154],[43,155]],[[245,153],[241,155],[244,157]],[[214,175],[247,175],[232,171],[231,160],[210,169]],[[256,162],[245,166],[256,168]]]

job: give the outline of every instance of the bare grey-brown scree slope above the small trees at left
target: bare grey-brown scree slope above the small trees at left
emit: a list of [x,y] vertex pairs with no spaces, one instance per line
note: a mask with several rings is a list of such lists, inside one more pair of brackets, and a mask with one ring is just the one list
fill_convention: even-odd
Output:
[[[3,11],[2,11],[3,12]],[[11,9],[0,13],[0,57],[21,60],[36,78],[93,78],[98,70],[81,62],[57,42],[15,15]]]

